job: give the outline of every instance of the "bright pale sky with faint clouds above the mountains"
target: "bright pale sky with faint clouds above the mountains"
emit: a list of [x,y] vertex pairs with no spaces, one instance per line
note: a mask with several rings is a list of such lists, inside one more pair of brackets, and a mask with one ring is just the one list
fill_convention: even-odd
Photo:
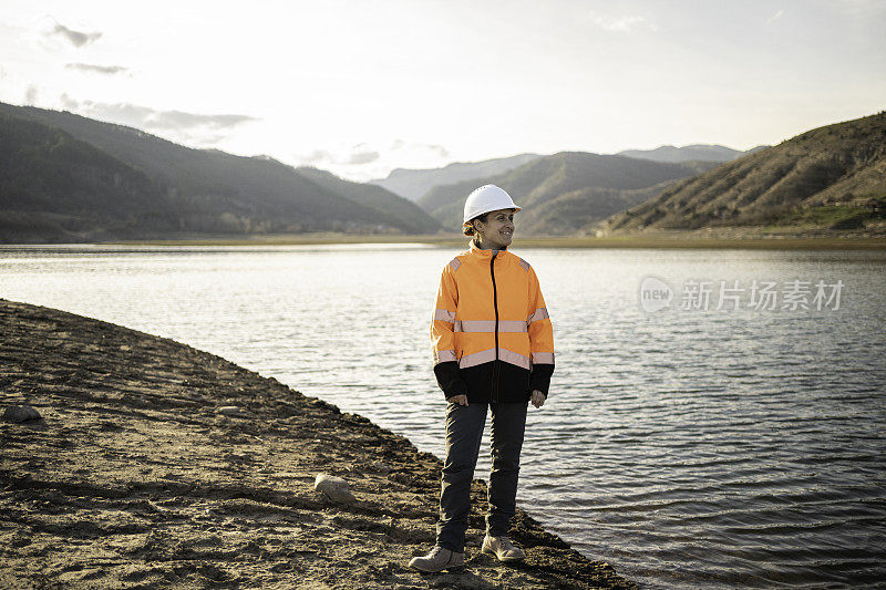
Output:
[[0,101],[354,180],[886,108],[884,0],[0,0]]

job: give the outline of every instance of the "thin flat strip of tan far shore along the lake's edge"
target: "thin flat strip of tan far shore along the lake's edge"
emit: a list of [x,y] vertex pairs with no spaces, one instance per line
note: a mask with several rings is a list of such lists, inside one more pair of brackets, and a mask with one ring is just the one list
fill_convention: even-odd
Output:
[[[457,234],[437,235],[358,235],[297,234],[236,237],[194,237],[163,240],[104,242],[116,246],[310,246],[333,244],[424,244],[439,247],[462,247],[467,237]],[[51,245],[48,245],[51,246]],[[602,237],[533,236],[514,239],[514,248],[679,248],[679,249],[752,249],[752,250],[884,250],[886,236],[821,234],[727,232],[714,236],[700,231],[660,231]]]

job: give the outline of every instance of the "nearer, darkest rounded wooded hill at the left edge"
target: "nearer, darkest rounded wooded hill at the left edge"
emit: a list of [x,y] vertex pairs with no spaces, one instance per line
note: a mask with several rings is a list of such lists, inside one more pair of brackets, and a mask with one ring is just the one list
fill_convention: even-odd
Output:
[[151,237],[176,222],[141,170],[61,130],[0,115],[0,242]]

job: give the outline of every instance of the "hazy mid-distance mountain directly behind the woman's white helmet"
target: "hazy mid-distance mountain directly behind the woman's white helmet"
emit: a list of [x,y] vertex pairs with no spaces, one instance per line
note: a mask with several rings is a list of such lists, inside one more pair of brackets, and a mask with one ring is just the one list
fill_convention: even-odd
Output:
[[497,176],[440,186],[419,199],[449,230],[462,226],[467,195],[486,183],[501,186],[523,208],[526,234],[575,234],[614,213],[663,190],[671,183],[711,169],[713,164],[666,164],[616,155],[563,152],[536,158]]

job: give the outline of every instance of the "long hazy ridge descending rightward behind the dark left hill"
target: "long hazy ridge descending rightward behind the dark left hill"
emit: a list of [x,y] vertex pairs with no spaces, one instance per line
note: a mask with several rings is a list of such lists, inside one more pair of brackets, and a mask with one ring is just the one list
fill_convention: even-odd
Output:
[[[140,170],[165,199],[155,209],[172,210],[177,216],[176,222],[166,228],[167,232],[244,235],[331,230],[399,234],[412,231],[415,225],[404,224],[368,205],[378,200],[377,196],[348,198],[274,159],[192,149],[132,127],[68,112],[0,103],[0,115],[7,122],[27,120],[63,131],[93,146],[95,153],[113,154],[115,159]],[[378,192],[377,187],[359,186],[365,186],[373,194]],[[351,187],[349,193],[359,197],[360,190]],[[44,210],[47,215],[59,213],[53,208],[55,203],[44,199],[43,205],[49,207]]]

